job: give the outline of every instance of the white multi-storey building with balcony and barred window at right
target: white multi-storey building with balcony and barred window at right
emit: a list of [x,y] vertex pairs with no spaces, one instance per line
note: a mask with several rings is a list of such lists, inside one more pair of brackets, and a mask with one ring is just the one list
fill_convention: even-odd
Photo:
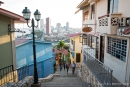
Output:
[[[112,75],[122,84],[130,84],[130,12],[129,0],[83,0],[77,8],[82,10],[84,32],[83,50],[113,70]],[[126,10],[124,10],[124,8]],[[76,11],[76,13],[78,12]],[[95,50],[94,50],[95,49]],[[84,54],[83,54],[84,55]]]

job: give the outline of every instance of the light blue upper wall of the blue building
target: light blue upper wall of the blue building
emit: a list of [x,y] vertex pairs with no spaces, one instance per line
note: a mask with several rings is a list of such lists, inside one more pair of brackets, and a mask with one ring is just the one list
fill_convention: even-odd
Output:
[[[51,43],[36,42],[37,62],[52,58]],[[16,67],[22,67],[33,63],[32,41],[16,47]]]

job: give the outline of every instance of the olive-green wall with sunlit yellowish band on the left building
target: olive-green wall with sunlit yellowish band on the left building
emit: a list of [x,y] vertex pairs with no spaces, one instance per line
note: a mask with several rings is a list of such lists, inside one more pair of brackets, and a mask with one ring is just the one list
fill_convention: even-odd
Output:
[[8,35],[8,24],[12,25],[11,19],[0,15],[0,69],[13,65],[15,62],[13,61],[12,37]]

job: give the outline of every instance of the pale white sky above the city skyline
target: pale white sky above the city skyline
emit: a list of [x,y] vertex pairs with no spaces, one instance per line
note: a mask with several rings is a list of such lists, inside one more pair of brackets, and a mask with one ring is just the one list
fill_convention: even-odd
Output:
[[74,14],[77,10],[78,4],[82,0],[2,0],[4,4],[0,7],[6,10],[12,11],[19,15],[22,15],[22,11],[25,7],[32,12],[31,18],[34,17],[34,11],[38,9],[41,12],[41,19],[47,17],[51,18],[51,25],[56,26],[56,23],[61,23],[61,26],[65,26],[66,22],[69,22],[70,27],[82,26],[81,11]]

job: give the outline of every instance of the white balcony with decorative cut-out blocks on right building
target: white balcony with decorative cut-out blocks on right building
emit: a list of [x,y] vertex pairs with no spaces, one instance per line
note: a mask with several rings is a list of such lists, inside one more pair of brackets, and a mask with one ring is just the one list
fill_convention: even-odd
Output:
[[120,18],[121,13],[112,13],[98,17],[96,32],[117,34],[118,22]]

